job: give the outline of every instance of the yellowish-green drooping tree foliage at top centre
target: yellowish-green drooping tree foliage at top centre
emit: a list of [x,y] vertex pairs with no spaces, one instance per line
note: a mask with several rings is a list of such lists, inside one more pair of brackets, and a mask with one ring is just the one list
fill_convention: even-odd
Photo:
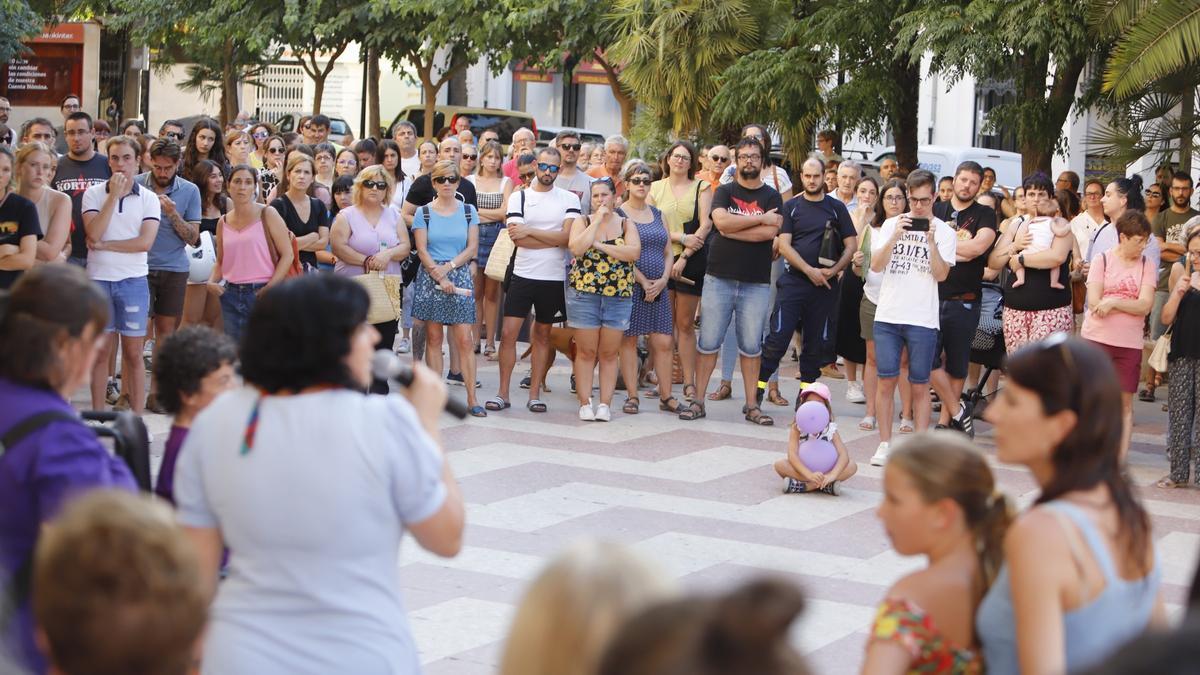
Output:
[[618,0],[607,18],[620,82],[679,137],[707,126],[719,76],[758,38],[748,0]]

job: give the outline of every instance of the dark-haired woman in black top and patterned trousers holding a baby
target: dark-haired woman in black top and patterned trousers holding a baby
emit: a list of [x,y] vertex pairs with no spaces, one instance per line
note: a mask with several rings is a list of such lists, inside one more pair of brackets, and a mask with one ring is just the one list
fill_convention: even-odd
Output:
[[[1032,215],[1052,216],[1058,207],[1054,202],[1054,185],[1044,173],[1036,173],[1025,179],[1024,204]],[[1016,225],[1014,225],[1014,222]],[[988,257],[988,267],[1001,270],[1016,258],[1025,268],[1025,283],[1013,286],[1015,274],[1004,279],[1004,346],[1013,353],[1022,345],[1042,340],[1054,333],[1070,333],[1075,327],[1075,315],[1070,310],[1070,287],[1060,283],[1060,288],[1050,285],[1050,270],[1058,269],[1058,279],[1068,279],[1070,274],[1070,251],[1074,237],[1055,235],[1050,247],[1044,251],[1026,253],[1025,249],[1033,244],[1033,235],[1027,227],[1020,227],[1024,221],[1006,221],[1006,229],[1000,234],[996,245]]]

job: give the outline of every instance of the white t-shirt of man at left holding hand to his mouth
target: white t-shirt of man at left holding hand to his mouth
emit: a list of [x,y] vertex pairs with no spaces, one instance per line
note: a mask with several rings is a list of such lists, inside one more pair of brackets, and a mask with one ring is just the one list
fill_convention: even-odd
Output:
[[[108,198],[108,181],[97,183],[83,193],[80,213],[100,213]],[[146,190],[133,181],[133,190],[120,198],[116,208],[113,209],[113,219],[104,229],[102,241],[120,241],[134,239],[142,233],[142,221],[155,221],[155,232],[158,229],[158,220],[162,216],[162,207],[158,204],[158,196],[154,190]],[[120,281],[145,276],[150,271],[146,262],[148,251],[140,253],[121,253],[118,251],[89,251],[88,252],[88,276],[96,281]]]

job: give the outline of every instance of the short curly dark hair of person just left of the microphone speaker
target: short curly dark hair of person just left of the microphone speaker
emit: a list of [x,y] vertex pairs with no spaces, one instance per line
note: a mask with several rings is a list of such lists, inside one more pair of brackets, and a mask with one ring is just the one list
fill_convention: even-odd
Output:
[[162,341],[155,357],[158,402],[168,413],[179,414],[184,394],[198,393],[209,374],[236,360],[238,346],[223,333],[206,325],[180,328]]

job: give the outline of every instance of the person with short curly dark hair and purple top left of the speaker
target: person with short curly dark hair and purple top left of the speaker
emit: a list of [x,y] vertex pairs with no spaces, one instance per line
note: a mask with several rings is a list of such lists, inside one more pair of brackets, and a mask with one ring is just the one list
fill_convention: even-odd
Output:
[[175,418],[154,491],[170,503],[175,503],[175,461],[187,430],[217,395],[238,386],[233,368],[236,360],[238,347],[233,340],[204,325],[181,328],[158,347],[154,368],[158,400]]

